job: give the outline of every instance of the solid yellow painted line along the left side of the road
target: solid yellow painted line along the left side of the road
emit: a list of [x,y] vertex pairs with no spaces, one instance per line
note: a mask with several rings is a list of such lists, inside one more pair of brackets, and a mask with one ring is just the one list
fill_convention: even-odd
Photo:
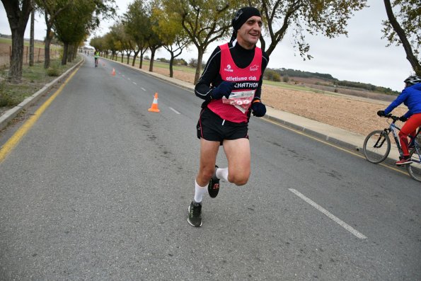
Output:
[[44,113],[44,111],[50,106],[52,101],[54,101],[54,98],[59,96],[59,93],[62,92],[64,86],[66,86],[67,82],[69,82],[69,80],[74,76],[74,74],[76,74],[76,71],[78,71],[79,68],[80,67],[78,67],[75,71],[73,71],[70,74],[69,78],[67,78],[66,81],[64,81],[62,86],[60,86],[58,90],[52,96],[50,96],[50,98],[48,98],[47,101],[45,101],[45,103],[43,103],[40,106],[40,108],[38,108],[38,110],[36,110],[35,113],[25,123],[23,123],[22,127],[20,127],[10,139],[8,139],[4,146],[0,148],[0,164],[4,161],[6,156],[18,145],[18,143],[21,141],[23,136],[25,136],[25,134],[30,130],[30,128],[33,127],[33,125],[35,124],[35,122],[37,122],[38,118],[40,118],[42,113]]

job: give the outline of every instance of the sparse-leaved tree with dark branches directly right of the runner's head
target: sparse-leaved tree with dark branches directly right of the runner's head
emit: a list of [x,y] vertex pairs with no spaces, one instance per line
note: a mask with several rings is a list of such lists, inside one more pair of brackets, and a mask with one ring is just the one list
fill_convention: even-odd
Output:
[[267,45],[260,36],[261,47],[272,54],[289,29],[294,33],[294,45],[301,57],[311,59],[310,45],[306,43],[304,30],[309,34],[321,33],[328,38],[347,35],[347,20],[354,11],[366,6],[367,0],[258,0],[250,5],[260,8],[270,37]]

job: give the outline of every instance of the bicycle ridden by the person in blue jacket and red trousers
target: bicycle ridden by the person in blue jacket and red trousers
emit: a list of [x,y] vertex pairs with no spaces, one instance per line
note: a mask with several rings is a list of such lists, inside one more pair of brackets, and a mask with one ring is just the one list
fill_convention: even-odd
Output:
[[[400,147],[400,142],[398,138],[397,130],[400,131],[400,127],[396,126],[396,121],[399,120],[398,116],[388,114],[385,116],[388,119],[393,121],[390,123],[389,127],[383,130],[375,130],[367,135],[364,139],[364,144],[362,151],[364,153],[367,161],[379,164],[384,161],[388,154],[391,151],[391,139],[388,134],[392,132],[393,139],[396,142],[396,147],[398,147],[400,159],[403,157],[402,147]],[[406,164],[406,170],[408,171],[411,178],[421,182],[421,127],[418,128],[415,136],[409,136],[409,149],[410,149],[410,159],[413,161],[411,164]]]

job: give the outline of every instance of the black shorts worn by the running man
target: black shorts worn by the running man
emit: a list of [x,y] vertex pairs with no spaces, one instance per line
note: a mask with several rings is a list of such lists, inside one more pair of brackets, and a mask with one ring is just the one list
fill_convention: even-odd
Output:
[[248,139],[248,123],[235,123],[224,120],[209,108],[200,112],[197,122],[197,138],[212,142],[222,142],[224,139]]

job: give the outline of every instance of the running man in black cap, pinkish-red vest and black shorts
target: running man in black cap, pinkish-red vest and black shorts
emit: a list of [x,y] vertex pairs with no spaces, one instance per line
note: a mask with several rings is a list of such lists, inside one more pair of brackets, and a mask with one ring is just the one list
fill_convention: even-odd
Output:
[[[188,222],[202,226],[202,197],[208,190],[217,197],[219,179],[245,185],[250,176],[250,113],[263,117],[260,101],[263,72],[269,57],[256,47],[262,30],[257,8],[244,7],[231,21],[233,35],[229,43],[217,47],[195,86],[195,94],[204,99],[197,137],[200,139],[200,167],[195,181],[195,197],[189,206]],[[224,148],[227,168],[216,166],[219,146]]]

